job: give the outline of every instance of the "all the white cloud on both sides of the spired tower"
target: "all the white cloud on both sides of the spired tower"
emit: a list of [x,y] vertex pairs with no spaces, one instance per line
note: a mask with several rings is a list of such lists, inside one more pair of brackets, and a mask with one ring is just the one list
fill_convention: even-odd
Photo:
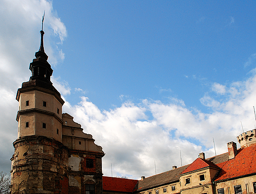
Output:
[[[38,29],[43,11],[46,10],[44,30],[52,35],[45,39],[51,64],[58,65],[64,59],[64,53],[56,48],[67,34],[51,1],[2,0],[1,9],[4,11],[0,12],[0,101],[4,103],[0,103],[0,170],[8,172],[12,142],[17,137],[16,91],[31,75],[28,65],[39,49]],[[195,75],[192,78],[197,79]],[[52,81],[63,97],[70,95],[68,83],[55,77]],[[226,152],[226,143],[236,142],[236,136],[242,132],[240,121],[245,131],[254,128],[255,88],[255,70],[245,81],[214,83],[200,99],[210,113],[187,107],[182,99],[170,97],[169,103],[141,99],[135,104],[122,95],[120,99],[126,101],[111,110],[100,110],[88,97],[81,97],[76,105],[66,101],[63,110],[103,147],[104,175],[111,175],[112,164],[114,176],[139,178],[155,174],[155,162],[158,173],[174,165],[179,167],[180,152],[183,165],[191,163],[202,151],[206,157],[213,156],[213,137],[217,154]],[[74,90],[82,92],[79,88]]]

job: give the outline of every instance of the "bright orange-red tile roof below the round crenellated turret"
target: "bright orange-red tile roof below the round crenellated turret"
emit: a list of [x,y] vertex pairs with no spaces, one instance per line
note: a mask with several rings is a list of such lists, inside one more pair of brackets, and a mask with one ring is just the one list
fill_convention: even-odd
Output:
[[215,181],[256,173],[255,160],[256,145],[238,149],[235,158],[217,164],[222,170]]

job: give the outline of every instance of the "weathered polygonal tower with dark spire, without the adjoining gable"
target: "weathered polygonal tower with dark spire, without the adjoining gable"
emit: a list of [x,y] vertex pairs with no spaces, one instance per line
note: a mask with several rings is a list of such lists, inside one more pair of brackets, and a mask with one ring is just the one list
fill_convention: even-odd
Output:
[[68,191],[62,184],[68,174],[68,149],[62,144],[64,100],[50,80],[53,70],[44,52],[44,31],[40,33],[40,49],[30,64],[32,76],[22,83],[16,96],[18,139],[11,158],[12,194]]

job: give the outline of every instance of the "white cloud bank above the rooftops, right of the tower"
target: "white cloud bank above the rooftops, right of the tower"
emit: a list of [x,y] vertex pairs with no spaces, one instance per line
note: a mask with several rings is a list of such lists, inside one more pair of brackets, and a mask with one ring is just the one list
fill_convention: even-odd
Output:
[[[124,102],[121,107],[108,111],[99,110],[87,97],[82,97],[75,106],[64,106],[64,110],[103,147],[105,175],[111,175],[112,164],[114,176],[139,178],[155,174],[155,162],[158,173],[174,165],[179,167],[180,152],[183,165],[191,163],[202,151],[206,157],[214,156],[213,138],[217,154],[226,152],[226,143],[236,142],[236,136],[242,132],[240,121],[245,130],[254,127],[255,87],[255,74],[230,86],[214,83],[213,92],[228,95],[222,99],[206,95],[201,99],[212,109],[211,114],[183,103],[164,104],[152,99],[141,100],[139,104]],[[234,90],[240,92],[235,92],[234,96],[225,92]]]

